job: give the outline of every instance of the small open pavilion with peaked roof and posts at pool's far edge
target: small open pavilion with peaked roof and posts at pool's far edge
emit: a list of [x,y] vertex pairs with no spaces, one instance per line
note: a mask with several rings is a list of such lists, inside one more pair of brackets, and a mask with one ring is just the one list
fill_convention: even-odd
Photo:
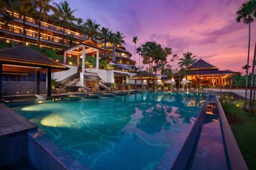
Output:
[[[146,81],[146,89],[148,90],[150,80],[153,80],[154,82],[154,80],[158,80],[158,77],[144,70],[139,72],[137,75],[131,77],[130,80],[135,80],[135,90],[137,88],[137,80]],[[143,89],[143,83],[141,83],[141,89]]]

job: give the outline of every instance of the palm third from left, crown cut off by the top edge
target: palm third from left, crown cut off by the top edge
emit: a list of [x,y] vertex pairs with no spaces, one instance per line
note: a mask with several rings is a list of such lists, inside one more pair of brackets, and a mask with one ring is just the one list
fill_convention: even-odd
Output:
[[[34,5],[39,8],[39,21],[38,21],[38,40],[37,40],[37,51],[39,52],[40,49],[40,34],[41,34],[41,18],[42,18],[42,13],[44,10],[54,10],[54,7],[51,6],[49,3],[52,0],[33,0]],[[47,34],[47,32],[46,32]]]

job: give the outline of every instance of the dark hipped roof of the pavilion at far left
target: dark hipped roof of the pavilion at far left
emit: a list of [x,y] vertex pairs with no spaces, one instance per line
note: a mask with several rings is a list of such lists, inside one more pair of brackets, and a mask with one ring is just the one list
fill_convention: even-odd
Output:
[[0,61],[3,64],[54,68],[60,70],[68,70],[69,68],[59,64],[50,58],[31,50],[25,45],[5,48],[0,50]]

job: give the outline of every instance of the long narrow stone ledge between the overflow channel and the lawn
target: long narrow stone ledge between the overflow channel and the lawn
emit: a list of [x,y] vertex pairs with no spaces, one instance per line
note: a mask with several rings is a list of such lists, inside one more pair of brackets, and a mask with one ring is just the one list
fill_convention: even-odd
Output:
[[218,107],[218,112],[220,116],[220,125],[223,136],[224,148],[227,155],[227,161],[230,169],[243,169],[246,170],[247,165],[238,147],[237,141],[234,138],[233,132],[228,124],[227,118],[225,116],[224,110],[221,106],[218,96],[216,96],[216,103]]

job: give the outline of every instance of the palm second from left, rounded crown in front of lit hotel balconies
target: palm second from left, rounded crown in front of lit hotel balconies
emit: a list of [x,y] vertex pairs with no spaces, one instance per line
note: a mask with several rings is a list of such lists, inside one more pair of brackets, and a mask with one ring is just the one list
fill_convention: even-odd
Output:
[[35,5],[31,4],[30,0],[18,1],[18,13],[23,16],[23,41],[26,45],[26,16],[31,16],[35,12]]

